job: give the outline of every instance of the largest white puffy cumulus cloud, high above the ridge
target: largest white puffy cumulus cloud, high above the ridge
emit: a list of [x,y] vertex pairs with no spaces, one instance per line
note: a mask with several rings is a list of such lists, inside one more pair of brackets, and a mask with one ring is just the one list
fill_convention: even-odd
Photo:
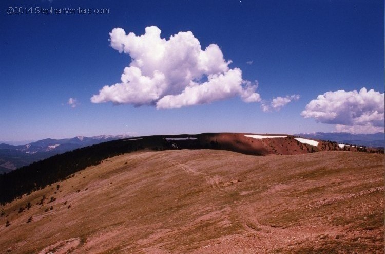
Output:
[[257,84],[242,80],[242,71],[230,69],[216,44],[202,50],[192,32],[179,32],[169,40],[161,38],[156,26],[137,36],[121,28],[110,32],[110,45],[130,55],[121,82],[104,86],[93,103],[155,105],[179,108],[210,103],[234,96],[244,102],[258,102]]

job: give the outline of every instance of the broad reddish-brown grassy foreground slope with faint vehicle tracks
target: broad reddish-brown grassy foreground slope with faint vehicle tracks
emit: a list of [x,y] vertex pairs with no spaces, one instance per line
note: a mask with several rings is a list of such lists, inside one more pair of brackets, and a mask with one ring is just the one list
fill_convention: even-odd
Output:
[[383,253],[383,167],[357,152],[122,155],[1,207],[0,252]]

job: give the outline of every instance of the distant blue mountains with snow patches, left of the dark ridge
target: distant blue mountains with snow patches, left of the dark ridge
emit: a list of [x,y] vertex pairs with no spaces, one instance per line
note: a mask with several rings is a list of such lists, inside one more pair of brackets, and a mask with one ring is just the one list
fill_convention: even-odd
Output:
[[17,146],[0,143],[0,173],[15,170],[16,168],[29,165],[34,161],[42,160],[56,154],[128,137],[131,136],[123,134],[92,137],[76,136],[64,139],[46,138]]

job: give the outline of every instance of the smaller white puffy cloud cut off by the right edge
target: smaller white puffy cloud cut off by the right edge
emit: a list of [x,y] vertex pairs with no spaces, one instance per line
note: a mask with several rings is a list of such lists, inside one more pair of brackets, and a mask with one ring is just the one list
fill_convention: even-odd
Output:
[[319,95],[306,105],[301,115],[322,123],[338,124],[339,130],[362,132],[366,128],[368,131],[383,132],[384,107],[384,93],[373,89],[368,91],[366,88],[359,92],[338,90]]

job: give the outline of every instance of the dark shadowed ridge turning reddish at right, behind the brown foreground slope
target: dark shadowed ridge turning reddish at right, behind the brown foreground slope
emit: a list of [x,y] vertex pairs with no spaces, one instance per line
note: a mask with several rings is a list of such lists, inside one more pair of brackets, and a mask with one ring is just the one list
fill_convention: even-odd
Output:
[[7,174],[0,175],[0,204],[45,188],[66,179],[103,159],[138,150],[164,151],[169,149],[220,149],[250,155],[294,155],[319,151],[362,151],[383,153],[383,150],[345,146],[319,140],[318,146],[301,143],[293,136],[255,139],[244,133],[202,133],[197,135],[159,135],[114,140],[76,149],[34,162]]

